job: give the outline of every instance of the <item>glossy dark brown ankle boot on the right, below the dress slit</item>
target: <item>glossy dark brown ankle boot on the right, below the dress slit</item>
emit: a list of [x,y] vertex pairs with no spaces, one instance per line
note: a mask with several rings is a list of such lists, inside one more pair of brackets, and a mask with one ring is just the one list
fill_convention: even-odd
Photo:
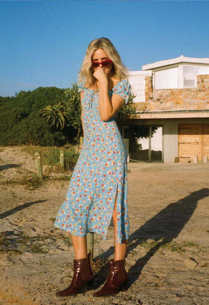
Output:
[[110,296],[118,293],[120,290],[127,290],[129,281],[124,264],[125,260],[110,262],[107,281],[102,289],[95,292],[93,296]]

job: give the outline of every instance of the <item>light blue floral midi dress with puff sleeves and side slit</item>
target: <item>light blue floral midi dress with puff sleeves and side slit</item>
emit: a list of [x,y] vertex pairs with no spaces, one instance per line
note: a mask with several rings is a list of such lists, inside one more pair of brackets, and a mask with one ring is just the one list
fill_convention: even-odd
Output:
[[[84,81],[79,81],[78,91],[84,93],[83,145],[54,227],[77,236],[96,232],[106,240],[117,195],[116,241],[122,244],[129,237],[127,151],[116,115],[101,120],[99,90],[85,88]],[[119,81],[108,93],[110,98],[119,94],[127,103],[131,95],[129,81]]]

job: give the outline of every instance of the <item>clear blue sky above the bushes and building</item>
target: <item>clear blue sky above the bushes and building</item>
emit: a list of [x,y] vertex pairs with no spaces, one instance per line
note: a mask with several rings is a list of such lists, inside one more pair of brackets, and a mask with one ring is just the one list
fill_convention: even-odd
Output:
[[107,37],[129,70],[209,57],[208,1],[0,1],[0,95],[68,88],[89,42]]

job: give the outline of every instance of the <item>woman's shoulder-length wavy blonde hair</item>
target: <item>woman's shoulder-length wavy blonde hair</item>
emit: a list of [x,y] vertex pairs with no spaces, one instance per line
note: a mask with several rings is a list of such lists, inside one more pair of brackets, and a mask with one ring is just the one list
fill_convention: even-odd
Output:
[[85,78],[85,87],[90,88],[96,81],[96,78],[93,76],[92,70],[92,56],[97,49],[103,49],[107,56],[112,60],[113,67],[111,70],[112,76],[119,78],[120,80],[127,79],[129,77],[128,70],[126,66],[122,63],[120,55],[117,52],[116,48],[112,42],[105,37],[94,39],[90,42],[86,54],[79,71],[79,80]]

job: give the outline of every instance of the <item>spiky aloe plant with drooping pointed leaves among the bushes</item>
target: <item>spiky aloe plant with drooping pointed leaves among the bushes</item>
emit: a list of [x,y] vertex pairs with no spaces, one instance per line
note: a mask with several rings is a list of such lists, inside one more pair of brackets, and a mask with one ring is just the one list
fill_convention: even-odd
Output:
[[54,105],[48,105],[40,110],[40,115],[45,117],[47,123],[51,125],[55,130],[62,130],[66,124],[65,118],[68,118],[66,112],[64,112],[64,106],[55,103]]

